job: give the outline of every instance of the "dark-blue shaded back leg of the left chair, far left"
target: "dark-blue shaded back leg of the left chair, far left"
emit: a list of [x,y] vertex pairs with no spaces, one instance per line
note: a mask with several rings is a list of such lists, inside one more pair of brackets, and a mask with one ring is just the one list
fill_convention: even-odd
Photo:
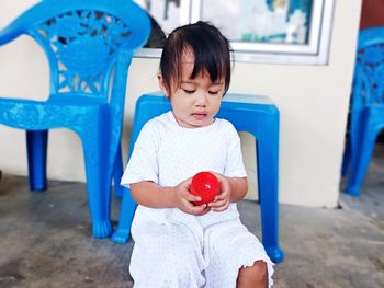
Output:
[[44,191],[47,187],[48,130],[26,130],[26,153],[31,191]]

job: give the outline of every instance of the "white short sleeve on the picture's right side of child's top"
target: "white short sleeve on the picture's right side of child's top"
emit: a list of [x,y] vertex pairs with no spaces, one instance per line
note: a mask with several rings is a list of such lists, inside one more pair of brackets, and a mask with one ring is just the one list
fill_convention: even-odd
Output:
[[240,137],[235,127],[227,123],[228,146],[224,175],[228,177],[246,177],[247,172],[244,166]]

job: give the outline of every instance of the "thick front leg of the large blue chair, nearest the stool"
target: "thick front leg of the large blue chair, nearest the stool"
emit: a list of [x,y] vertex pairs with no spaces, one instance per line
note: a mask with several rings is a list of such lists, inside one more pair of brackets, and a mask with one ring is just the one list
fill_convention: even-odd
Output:
[[[111,173],[108,168],[108,153],[101,152],[106,148],[105,135],[100,137],[102,130],[95,127],[82,138],[87,172],[88,201],[92,219],[92,235],[108,238],[111,235],[110,220],[111,207]],[[104,140],[103,140],[104,139]],[[105,143],[102,143],[102,142]],[[105,158],[105,159],[104,159]]]

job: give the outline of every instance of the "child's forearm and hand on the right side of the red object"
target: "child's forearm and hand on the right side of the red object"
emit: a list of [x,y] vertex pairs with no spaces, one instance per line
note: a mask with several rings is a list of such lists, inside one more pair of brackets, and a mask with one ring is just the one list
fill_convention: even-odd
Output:
[[208,207],[213,211],[223,211],[228,208],[230,203],[241,200],[248,191],[248,182],[246,177],[226,177],[214,173],[221,183],[221,194],[215,197]]

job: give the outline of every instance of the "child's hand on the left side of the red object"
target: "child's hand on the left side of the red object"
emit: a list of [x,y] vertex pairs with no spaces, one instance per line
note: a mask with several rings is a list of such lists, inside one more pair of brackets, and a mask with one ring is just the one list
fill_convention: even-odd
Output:
[[192,177],[181,182],[173,187],[174,206],[185,214],[202,216],[207,214],[211,209],[206,204],[194,206],[193,201],[200,201],[201,197],[190,193]]

